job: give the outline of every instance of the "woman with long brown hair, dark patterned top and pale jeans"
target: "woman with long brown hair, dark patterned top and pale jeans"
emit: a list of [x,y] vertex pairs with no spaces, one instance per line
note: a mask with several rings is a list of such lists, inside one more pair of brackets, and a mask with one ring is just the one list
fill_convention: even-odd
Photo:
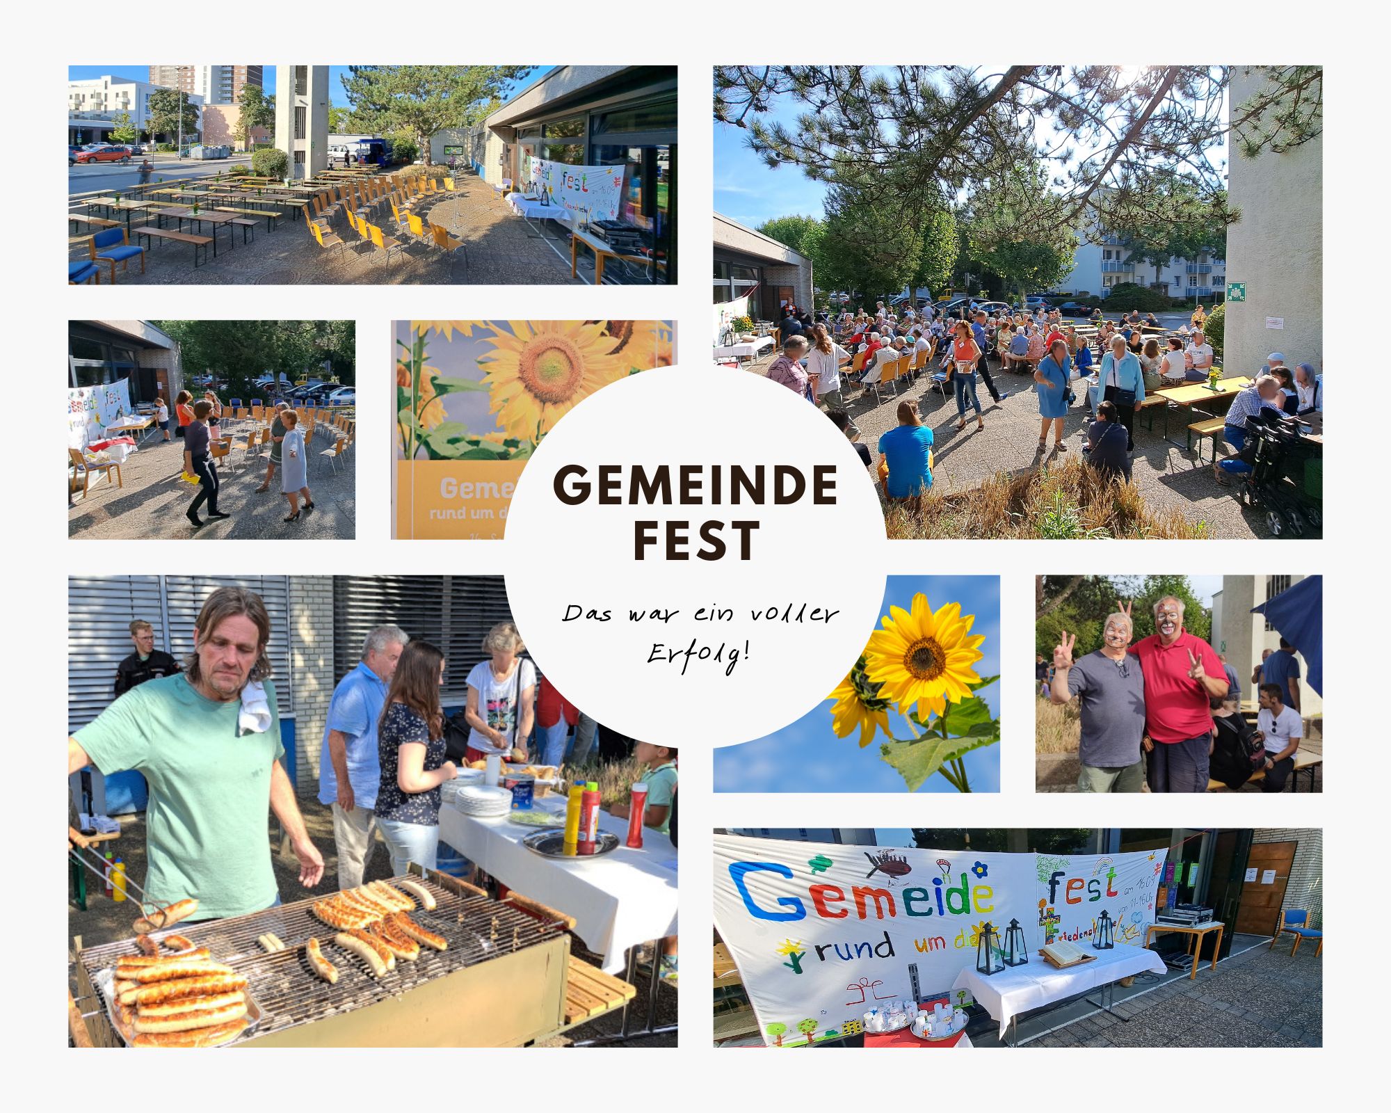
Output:
[[440,850],[440,786],[458,769],[445,760],[444,654],[428,641],[410,641],[387,690],[377,723],[381,779],[373,811],[391,854],[391,874],[410,863],[434,870]]

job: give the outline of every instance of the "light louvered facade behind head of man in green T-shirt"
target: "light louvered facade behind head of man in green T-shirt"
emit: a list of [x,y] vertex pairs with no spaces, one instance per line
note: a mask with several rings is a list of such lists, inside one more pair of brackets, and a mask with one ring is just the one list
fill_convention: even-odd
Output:
[[282,715],[294,711],[289,665],[288,576],[71,576],[68,577],[68,733],[115,698],[115,666],[131,650],[129,623],[154,627],[154,647],[179,664],[193,651],[193,627],[218,587],[246,587],[270,615],[267,657]]

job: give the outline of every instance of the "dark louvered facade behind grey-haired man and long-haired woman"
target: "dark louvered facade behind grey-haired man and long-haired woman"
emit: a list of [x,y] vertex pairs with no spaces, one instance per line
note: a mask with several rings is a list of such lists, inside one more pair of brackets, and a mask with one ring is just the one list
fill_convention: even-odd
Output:
[[463,704],[484,634],[510,620],[501,576],[334,576],[334,675],[356,666],[374,626],[391,623],[444,651],[441,700]]

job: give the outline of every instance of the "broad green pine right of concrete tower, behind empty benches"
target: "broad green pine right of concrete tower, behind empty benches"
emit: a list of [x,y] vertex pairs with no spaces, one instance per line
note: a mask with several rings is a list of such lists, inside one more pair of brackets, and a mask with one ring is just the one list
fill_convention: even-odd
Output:
[[524,65],[349,65],[351,122],[366,132],[409,132],[430,164],[430,136],[481,121]]

